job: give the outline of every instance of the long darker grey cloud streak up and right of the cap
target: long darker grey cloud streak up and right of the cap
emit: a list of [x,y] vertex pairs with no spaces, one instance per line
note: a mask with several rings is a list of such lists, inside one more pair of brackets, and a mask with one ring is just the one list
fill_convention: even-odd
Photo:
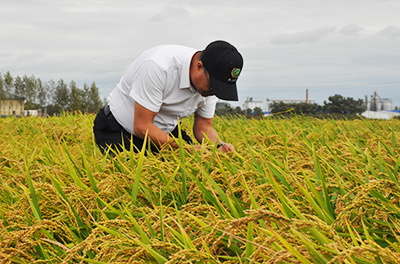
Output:
[[313,30],[299,31],[293,34],[282,34],[271,39],[272,44],[301,44],[314,43],[325,36],[334,33],[335,27],[327,26]]

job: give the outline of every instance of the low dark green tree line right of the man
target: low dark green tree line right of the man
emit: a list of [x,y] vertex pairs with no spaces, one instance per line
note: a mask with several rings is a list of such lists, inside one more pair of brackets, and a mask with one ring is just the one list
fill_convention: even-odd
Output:
[[[323,105],[316,103],[285,103],[272,102],[269,105],[271,114],[290,115],[292,113],[303,115],[316,116],[355,116],[365,111],[364,100],[353,99],[352,97],[344,97],[340,94],[335,94],[328,97],[328,101],[324,101]],[[242,110],[239,106],[233,108],[230,104],[223,103],[216,109],[216,115],[245,115],[248,117],[263,116],[261,108],[256,107],[254,110]]]

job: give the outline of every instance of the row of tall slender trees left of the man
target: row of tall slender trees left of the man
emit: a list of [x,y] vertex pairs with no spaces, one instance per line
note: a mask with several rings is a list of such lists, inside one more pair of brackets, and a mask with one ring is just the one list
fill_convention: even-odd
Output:
[[25,110],[41,110],[48,115],[62,112],[96,113],[103,105],[99,88],[93,82],[83,88],[75,81],[69,84],[60,79],[43,82],[35,76],[11,76],[0,73],[0,99],[24,98]]

